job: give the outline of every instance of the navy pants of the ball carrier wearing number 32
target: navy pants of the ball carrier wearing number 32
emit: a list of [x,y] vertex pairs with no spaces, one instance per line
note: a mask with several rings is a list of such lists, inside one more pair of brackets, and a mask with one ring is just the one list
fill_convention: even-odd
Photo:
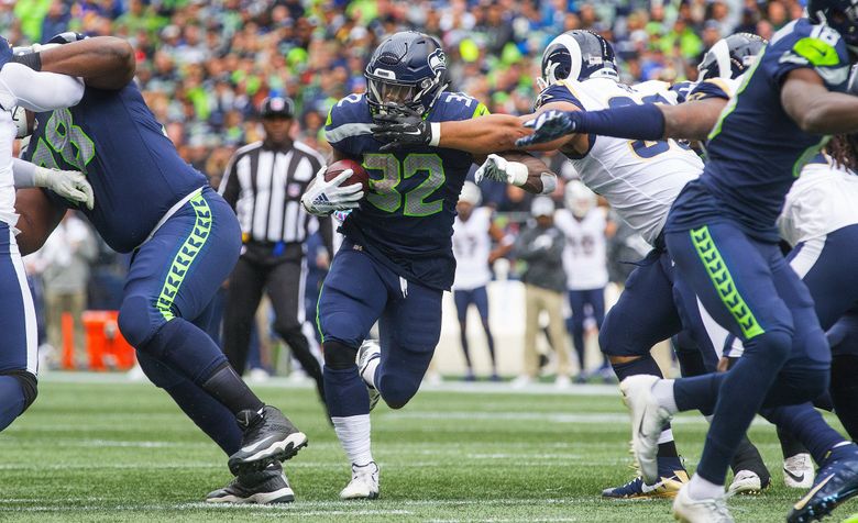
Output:
[[438,345],[441,296],[440,290],[406,281],[360,246],[343,242],[324,278],[318,308],[332,416],[366,414],[369,401],[356,365],[346,364],[348,355],[333,354],[330,347],[356,350],[378,321],[382,356],[375,387],[391,408],[402,408],[420,387]]

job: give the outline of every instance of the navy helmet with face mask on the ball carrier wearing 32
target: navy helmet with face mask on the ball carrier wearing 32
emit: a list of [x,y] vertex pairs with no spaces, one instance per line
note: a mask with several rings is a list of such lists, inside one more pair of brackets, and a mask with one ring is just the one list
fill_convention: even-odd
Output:
[[433,37],[403,31],[378,45],[364,76],[373,114],[403,107],[426,114],[447,89],[447,56]]

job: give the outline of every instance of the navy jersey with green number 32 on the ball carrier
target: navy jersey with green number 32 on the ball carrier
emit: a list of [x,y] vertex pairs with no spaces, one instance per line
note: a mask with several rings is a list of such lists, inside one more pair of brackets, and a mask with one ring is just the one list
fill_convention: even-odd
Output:
[[[428,121],[469,120],[487,113],[477,100],[458,92],[440,96]],[[399,276],[449,289],[455,274],[452,241],[455,203],[473,157],[441,147],[406,147],[381,153],[370,132],[364,94],[339,101],[324,132],[331,146],[359,159],[370,173],[370,191],[340,231]]]

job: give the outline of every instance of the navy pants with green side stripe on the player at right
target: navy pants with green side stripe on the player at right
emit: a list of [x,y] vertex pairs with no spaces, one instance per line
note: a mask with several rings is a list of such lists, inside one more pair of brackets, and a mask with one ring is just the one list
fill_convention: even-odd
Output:
[[669,233],[667,243],[676,277],[745,344],[729,372],[674,385],[680,410],[714,407],[697,472],[721,485],[763,405],[812,401],[827,389],[831,354],[810,292],[777,245],[749,238],[730,223]]

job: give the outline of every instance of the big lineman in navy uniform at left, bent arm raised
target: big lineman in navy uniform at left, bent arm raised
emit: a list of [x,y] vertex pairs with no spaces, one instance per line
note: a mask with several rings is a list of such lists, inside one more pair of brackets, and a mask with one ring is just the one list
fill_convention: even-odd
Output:
[[[66,73],[68,64],[101,69],[70,108],[35,115],[26,158],[42,167],[85,173],[94,208],[56,194],[18,193],[22,249],[36,249],[67,208],[82,211],[113,249],[133,252],[119,329],[136,348],[146,376],[230,456],[237,479],[209,501],[292,501],[279,460],[307,437],[265,405],[233,371],[207,334],[211,298],[239,256],[235,213],[206,177],[178,155],[130,80],[135,62],[119,38],[79,40],[23,55],[31,67]],[[210,331],[208,331],[210,332]]]

